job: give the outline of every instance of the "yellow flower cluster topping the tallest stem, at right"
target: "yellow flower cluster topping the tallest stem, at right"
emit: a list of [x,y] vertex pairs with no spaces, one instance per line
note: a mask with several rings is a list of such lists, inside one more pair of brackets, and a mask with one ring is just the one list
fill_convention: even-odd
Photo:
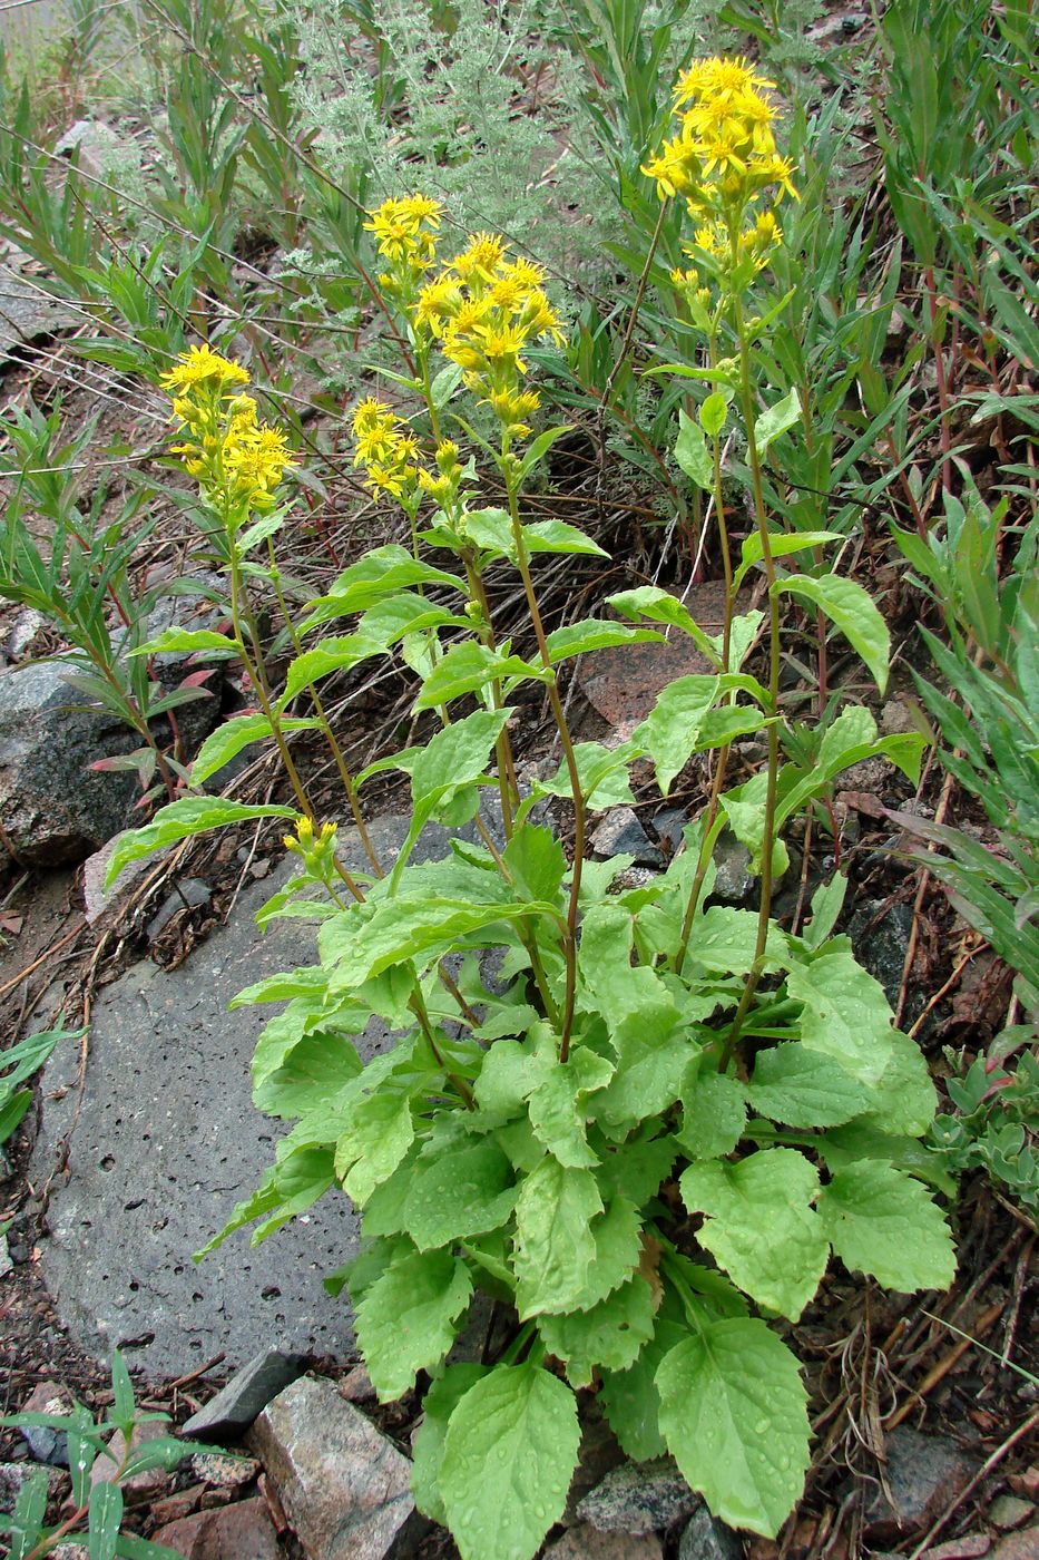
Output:
[[674,271],[672,281],[700,300],[705,279],[741,262],[761,270],[782,242],[774,214],[755,211],[764,192],[797,198],[794,165],[777,151],[775,109],[763,92],[772,86],[741,58],[696,61],[674,92],[679,134],[643,167],[660,198],[683,198],[697,223],[685,246],[694,268]]

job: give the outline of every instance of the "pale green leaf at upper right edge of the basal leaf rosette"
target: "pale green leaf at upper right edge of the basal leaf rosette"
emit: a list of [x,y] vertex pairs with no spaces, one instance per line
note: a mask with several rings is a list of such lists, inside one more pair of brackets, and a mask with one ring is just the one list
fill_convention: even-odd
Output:
[[894,1051],[891,1008],[880,981],[849,952],[819,953],[796,966],[786,992],[803,1003],[800,1039],[832,1056],[853,1078],[875,1084]]

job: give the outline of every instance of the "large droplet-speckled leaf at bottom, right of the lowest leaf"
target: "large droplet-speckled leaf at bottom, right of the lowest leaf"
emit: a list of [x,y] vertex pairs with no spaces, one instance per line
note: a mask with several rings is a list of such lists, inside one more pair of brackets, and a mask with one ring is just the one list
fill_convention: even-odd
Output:
[[657,1370],[660,1427],[683,1477],[730,1527],[774,1538],[808,1470],[797,1360],[758,1320],[715,1321]]

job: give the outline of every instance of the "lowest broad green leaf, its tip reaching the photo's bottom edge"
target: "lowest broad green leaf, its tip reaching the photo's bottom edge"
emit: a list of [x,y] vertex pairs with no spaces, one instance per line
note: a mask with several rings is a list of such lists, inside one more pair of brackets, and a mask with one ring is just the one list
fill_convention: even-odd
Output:
[[560,1519],[580,1429],[569,1387],[537,1365],[496,1365],[448,1423],[440,1494],[462,1560],[532,1560]]

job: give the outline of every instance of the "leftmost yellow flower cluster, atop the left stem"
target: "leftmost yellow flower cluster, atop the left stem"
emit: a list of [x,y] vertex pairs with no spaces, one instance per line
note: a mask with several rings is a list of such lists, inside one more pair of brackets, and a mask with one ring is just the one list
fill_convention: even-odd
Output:
[[256,401],[240,387],[250,376],[240,363],[192,346],[161,384],[173,396],[173,418],[187,438],[173,445],[184,470],[214,501],[236,513],[270,510],[284,473],[292,468],[285,435],[259,421]]

